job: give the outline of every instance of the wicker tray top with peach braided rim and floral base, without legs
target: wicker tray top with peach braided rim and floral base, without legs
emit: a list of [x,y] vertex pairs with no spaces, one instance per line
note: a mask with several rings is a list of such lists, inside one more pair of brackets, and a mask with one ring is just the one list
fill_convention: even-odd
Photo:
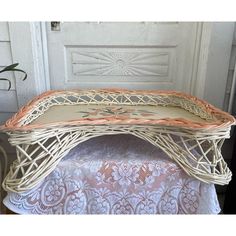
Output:
[[48,91],[31,100],[0,129],[33,130],[73,125],[161,125],[187,129],[229,128],[234,117],[176,91]]

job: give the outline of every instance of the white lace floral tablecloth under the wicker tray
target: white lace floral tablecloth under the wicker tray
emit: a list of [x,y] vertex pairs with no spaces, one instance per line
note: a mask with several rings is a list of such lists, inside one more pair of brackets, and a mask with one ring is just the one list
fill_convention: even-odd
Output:
[[189,177],[152,144],[131,135],[79,144],[37,187],[9,192],[19,214],[217,214],[215,187]]

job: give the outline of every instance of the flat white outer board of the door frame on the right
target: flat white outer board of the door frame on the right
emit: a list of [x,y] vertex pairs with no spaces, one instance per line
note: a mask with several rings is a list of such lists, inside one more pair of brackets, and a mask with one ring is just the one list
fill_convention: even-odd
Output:
[[213,24],[204,100],[223,109],[234,34],[234,23],[216,22]]

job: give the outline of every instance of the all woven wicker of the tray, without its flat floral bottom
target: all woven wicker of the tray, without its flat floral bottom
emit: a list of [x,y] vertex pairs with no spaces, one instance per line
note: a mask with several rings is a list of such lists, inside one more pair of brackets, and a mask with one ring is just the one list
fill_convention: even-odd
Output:
[[[43,98],[43,99],[41,99]],[[36,186],[76,145],[90,138],[111,134],[132,134],[162,149],[183,170],[206,183],[227,184],[231,172],[221,147],[229,138],[230,125],[224,113],[179,93],[136,94],[126,91],[49,92],[30,102],[4,127],[16,146],[17,160],[3,182],[6,190],[22,192]],[[126,104],[178,106],[211,122],[191,123],[184,119],[83,119],[47,125],[30,123],[54,105]],[[197,106],[198,105],[198,106]],[[225,115],[226,116],[226,115]],[[221,122],[219,122],[221,120]]]

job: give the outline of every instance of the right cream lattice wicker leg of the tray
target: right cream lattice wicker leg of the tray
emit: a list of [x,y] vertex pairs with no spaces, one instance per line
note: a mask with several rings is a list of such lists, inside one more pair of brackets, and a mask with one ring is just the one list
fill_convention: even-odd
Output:
[[231,171],[221,154],[224,139],[184,139],[160,133],[147,138],[147,134],[135,134],[162,149],[190,176],[206,183],[224,185],[231,180]]

